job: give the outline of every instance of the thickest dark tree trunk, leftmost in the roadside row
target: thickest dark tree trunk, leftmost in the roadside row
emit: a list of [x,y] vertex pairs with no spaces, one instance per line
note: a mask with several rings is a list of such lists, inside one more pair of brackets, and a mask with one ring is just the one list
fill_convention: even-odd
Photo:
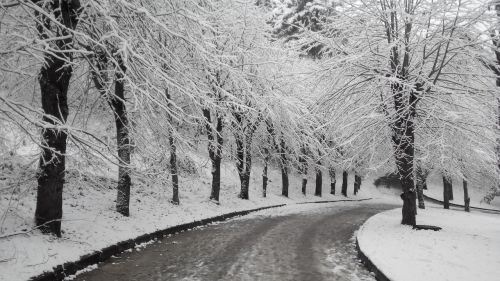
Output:
[[[50,20],[41,13],[36,13],[37,29],[40,39],[49,39],[46,30],[55,29],[54,39],[57,46],[54,53],[45,54],[44,65],[41,68],[38,82],[42,100],[42,109],[45,113],[43,121],[49,124],[64,124],[68,117],[68,88],[73,69],[69,62],[72,53],[68,51],[72,46],[73,37],[69,30],[74,30],[78,23],[80,2],[54,1],[47,11],[53,14],[59,24],[51,26]],[[53,27],[53,28],[52,28]],[[62,194],[66,170],[66,139],[67,132],[59,129],[43,129],[42,148],[39,171],[35,223],[43,233],[61,236]]]

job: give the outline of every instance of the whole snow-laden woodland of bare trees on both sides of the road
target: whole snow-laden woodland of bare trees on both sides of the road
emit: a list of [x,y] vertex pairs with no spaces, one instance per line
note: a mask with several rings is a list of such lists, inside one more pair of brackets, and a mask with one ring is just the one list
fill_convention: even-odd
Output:
[[197,157],[215,205],[225,162],[241,200],[266,197],[271,169],[285,197],[394,173],[405,225],[430,173],[445,204],[457,180],[489,202],[499,48],[496,1],[2,0],[1,223],[33,191],[36,229],[61,236],[68,182],[108,175],[120,216],[150,186],[182,205]]

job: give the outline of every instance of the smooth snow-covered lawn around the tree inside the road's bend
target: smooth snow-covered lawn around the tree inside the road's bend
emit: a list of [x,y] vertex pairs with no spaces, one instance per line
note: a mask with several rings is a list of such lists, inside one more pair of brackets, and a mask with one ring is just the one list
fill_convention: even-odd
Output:
[[400,224],[401,209],[371,217],[358,231],[365,255],[393,281],[498,280],[500,215],[430,207],[418,224],[441,231],[413,230]]

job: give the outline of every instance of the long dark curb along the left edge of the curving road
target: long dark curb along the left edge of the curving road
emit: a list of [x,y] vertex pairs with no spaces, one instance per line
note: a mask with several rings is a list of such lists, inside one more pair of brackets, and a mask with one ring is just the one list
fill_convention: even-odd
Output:
[[[371,198],[368,199],[355,199],[355,200],[350,200],[350,199],[344,199],[344,200],[330,200],[330,201],[311,201],[311,202],[299,202],[299,203],[294,203],[294,204],[313,204],[313,203],[334,203],[334,202],[345,202],[345,201],[366,201],[370,200]],[[60,264],[58,266],[55,266],[52,271],[50,272],[44,272],[40,275],[31,277],[29,280],[30,281],[61,281],[64,280],[68,275],[73,275],[75,274],[78,270],[82,270],[90,265],[93,264],[98,264],[100,262],[103,262],[107,259],[109,259],[111,256],[119,254],[123,251],[126,251],[128,249],[133,249],[136,245],[142,244],[144,242],[148,242],[151,240],[163,238],[169,234],[175,234],[178,232],[186,231],[188,229],[192,229],[198,226],[203,226],[207,225],[213,222],[221,222],[225,221],[231,218],[239,217],[239,216],[244,216],[248,215],[253,212],[257,211],[262,211],[266,209],[272,209],[272,208],[279,208],[287,205],[293,205],[292,204],[279,204],[279,205],[271,205],[271,206],[266,206],[266,207],[260,207],[256,209],[250,209],[250,210],[244,210],[244,211],[237,211],[237,212],[232,212],[232,213],[227,213],[211,218],[206,218],[202,220],[197,220],[189,223],[184,223],[176,226],[172,226],[166,229],[162,230],[157,230],[152,233],[146,233],[143,235],[140,235],[136,238],[125,240],[118,242],[114,245],[105,247],[99,251],[95,251],[90,254],[86,254],[80,257],[79,260],[77,261],[72,261],[72,262],[66,262],[64,264]]]

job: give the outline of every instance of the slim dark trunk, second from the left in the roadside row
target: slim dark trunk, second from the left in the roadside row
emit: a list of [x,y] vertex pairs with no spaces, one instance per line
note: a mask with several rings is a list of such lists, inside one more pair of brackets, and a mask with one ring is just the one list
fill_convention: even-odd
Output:
[[125,66],[123,61],[118,59],[121,71],[116,73],[115,95],[110,97],[110,104],[113,109],[116,125],[116,142],[118,145],[118,186],[116,196],[116,211],[124,216],[129,216],[130,205],[130,136],[127,108],[125,107],[125,81],[123,73]]

